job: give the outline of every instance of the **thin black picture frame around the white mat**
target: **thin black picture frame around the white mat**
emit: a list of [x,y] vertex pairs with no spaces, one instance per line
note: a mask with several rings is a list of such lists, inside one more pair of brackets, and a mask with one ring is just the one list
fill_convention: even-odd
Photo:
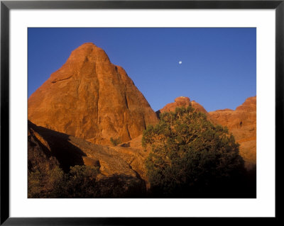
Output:
[[[246,222],[259,220],[266,223],[279,220],[278,181],[280,152],[283,151],[284,134],[284,0],[253,1],[1,1],[1,222],[2,225],[160,225],[180,224],[192,220],[199,224],[207,222],[234,220],[237,224],[241,217],[180,217],[176,218],[136,218],[136,217],[46,217],[16,218],[9,215],[9,11],[11,9],[275,9],[275,217],[246,217]],[[278,170],[277,170],[278,169]],[[178,221],[177,221],[178,220]],[[218,222],[219,223],[219,222]]]

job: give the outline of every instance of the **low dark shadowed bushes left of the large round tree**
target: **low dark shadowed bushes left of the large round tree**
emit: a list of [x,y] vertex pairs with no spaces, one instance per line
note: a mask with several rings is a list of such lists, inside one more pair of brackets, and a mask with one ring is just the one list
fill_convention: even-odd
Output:
[[[94,166],[71,166],[65,173],[59,166],[50,171],[28,173],[28,198],[142,198],[146,196],[136,180],[125,175],[98,179]],[[127,184],[127,191],[122,189]]]

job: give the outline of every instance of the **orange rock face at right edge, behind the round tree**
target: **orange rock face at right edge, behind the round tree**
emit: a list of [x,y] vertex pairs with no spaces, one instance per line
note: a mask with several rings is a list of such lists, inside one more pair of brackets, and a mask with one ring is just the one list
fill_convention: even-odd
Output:
[[240,154],[251,169],[256,165],[256,96],[249,97],[235,111],[209,112],[215,123],[226,126],[240,144]]

